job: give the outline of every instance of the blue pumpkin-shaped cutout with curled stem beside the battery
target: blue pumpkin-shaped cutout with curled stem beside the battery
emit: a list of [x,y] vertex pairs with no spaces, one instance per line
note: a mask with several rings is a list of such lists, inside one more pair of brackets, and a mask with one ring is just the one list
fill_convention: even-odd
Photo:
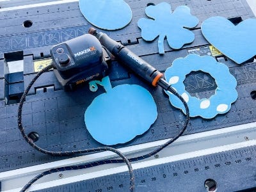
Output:
[[152,95],[136,84],[122,84],[112,88],[109,77],[90,82],[90,90],[97,84],[106,93],[96,97],[84,113],[84,122],[92,137],[104,145],[126,143],[146,132],[157,118]]

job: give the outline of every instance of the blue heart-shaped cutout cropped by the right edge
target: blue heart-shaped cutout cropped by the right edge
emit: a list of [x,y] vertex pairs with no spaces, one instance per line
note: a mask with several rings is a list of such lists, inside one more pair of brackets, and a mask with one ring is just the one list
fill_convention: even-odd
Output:
[[256,19],[246,19],[235,26],[225,17],[210,17],[201,29],[210,44],[238,64],[256,55]]

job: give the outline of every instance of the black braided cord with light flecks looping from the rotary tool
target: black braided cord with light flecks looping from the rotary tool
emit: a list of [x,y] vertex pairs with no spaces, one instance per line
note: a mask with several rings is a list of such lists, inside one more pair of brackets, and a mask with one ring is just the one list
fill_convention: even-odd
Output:
[[111,152],[115,152],[116,154],[118,154],[118,156],[122,157],[122,159],[107,159],[107,160],[95,161],[93,163],[82,164],[79,166],[65,166],[65,167],[61,167],[61,168],[54,168],[52,170],[49,170],[49,171],[40,173],[39,175],[36,175],[36,177],[33,178],[32,180],[30,180],[28,182],[28,184],[26,184],[26,186],[24,186],[24,188],[21,189],[20,192],[26,191],[26,189],[28,189],[34,182],[36,182],[36,180],[44,177],[45,175],[49,175],[51,173],[63,172],[66,170],[78,170],[78,169],[90,168],[93,166],[98,166],[100,164],[108,164],[108,163],[126,163],[127,164],[128,168],[129,168],[129,173],[130,173],[130,191],[134,191],[134,173],[133,173],[132,166],[131,166],[130,162],[140,161],[142,159],[147,159],[148,157],[154,156],[155,154],[157,154],[158,152],[163,150],[163,148],[167,147],[168,145],[172,144],[175,140],[177,140],[186,130],[186,127],[189,122],[188,104],[182,98],[182,96],[179,95],[179,93],[177,93],[171,86],[168,86],[168,88],[166,88],[166,89],[169,92],[173,93],[176,97],[178,97],[184,104],[184,107],[186,109],[186,120],[185,120],[184,125],[183,125],[182,129],[180,130],[179,134],[177,134],[177,136],[175,136],[174,138],[171,138],[166,143],[164,143],[160,147],[156,148],[152,152],[145,154],[143,156],[132,157],[131,159],[127,159],[119,150],[116,150],[115,148],[111,148],[111,147],[99,147],[99,148],[90,148],[90,149],[85,149],[85,150],[72,150],[72,151],[64,151],[64,152],[61,152],[61,151],[54,152],[54,151],[45,150],[44,148],[39,147],[32,140],[30,140],[28,135],[25,133],[24,127],[22,126],[22,107],[23,107],[24,101],[26,99],[26,95],[28,95],[28,92],[31,89],[31,87],[33,86],[33,84],[35,83],[36,79],[38,79],[38,77],[40,77],[44,72],[47,72],[51,68],[53,68],[53,66],[49,65],[49,66],[43,68],[40,72],[38,72],[36,74],[36,76],[31,80],[31,82],[29,83],[29,85],[26,88],[26,90],[24,91],[24,93],[22,94],[22,97],[21,97],[20,103],[19,103],[19,109],[18,109],[18,127],[19,127],[19,130],[20,130],[23,138],[29,143],[29,145],[31,145],[31,147],[38,150],[38,152],[42,152],[44,154],[50,154],[52,156],[71,156],[74,154],[102,152],[102,151],[109,150]]

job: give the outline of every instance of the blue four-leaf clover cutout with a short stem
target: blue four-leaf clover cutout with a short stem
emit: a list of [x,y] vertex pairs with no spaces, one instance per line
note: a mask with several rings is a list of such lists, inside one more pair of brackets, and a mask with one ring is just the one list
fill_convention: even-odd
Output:
[[172,13],[170,4],[163,2],[148,6],[145,13],[150,19],[142,18],[138,21],[141,37],[152,41],[159,36],[159,54],[164,54],[165,37],[173,49],[180,49],[184,44],[194,41],[195,34],[188,28],[195,28],[199,20],[191,15],[188,6],[178,6]]

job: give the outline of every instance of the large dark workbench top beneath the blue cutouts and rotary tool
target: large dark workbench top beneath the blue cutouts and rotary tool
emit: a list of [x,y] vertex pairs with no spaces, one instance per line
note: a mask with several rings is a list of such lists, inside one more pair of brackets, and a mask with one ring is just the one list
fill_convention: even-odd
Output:
[[[220,15],[236,18],[234,20],[254,17],[244,0],[167,1],[172,4],[173,10],[179,5],[189,6],[191,12],[200,19],[200,24],[192,30],[195,33],[195,41],[192,44],[174,51],[165,42],[166,53],[160,56],[157,53],[157,40],[152,43],[143,41],[137,22],[138,19],[146,17],[144,12],[148,3],[157,4],[161,1],[126,2],[132,8],[132,22],[124,29],[105,31],[105,33],[127,45],[129,49],[163,72],[173,60],[185,57],[191,52],[200,55],[211,53],[209,43],[200,31],[202,21],[208,17]],[[25,20],[33,21],[33,26],[24,28],[22,23]],[[35,76],[33,60],[49,58],[52,45],[83,35],[90,27],[91,25],[81,15],[77,2],[0,12],[0,172],[65,158],[47,156],[33,150],[23,140],[17,129],[18,104],[6,104],[5,100],[10,94],[20,93],[22,87],[26,87]],[[24,72],[21,77],[18,73],[17,76],[12,75],[10,78],[6,74],[6,61],[15,60],[12,56],[17,55],[24,59]],[[256,90],[256,63],[236,65],[224,56],[216,59],[230,67],[230,72],[236,77],[238,99],[225,115],[218,115],[211,120],[191,118],[186,134],[245,124],[255,120],[256,104],[251,93]],[[111,64],[109,76],[113,86],[129,83],[140,84],[147,88],[156,101],[158,111],[155,124],[145,134],[129,143],[115,147],[162,140],[177,134],[182,127],[184,115],[170,105],[163,90],[151,88],[116,61]],[[185,84],[191,94],[197,94],[200,97],[209,96],[216,88],[214,81],[205,78],[205,74],[202,73],[193,74]],[[36,144],[48,150],[77,150],[102,146],[93,140],[84,125],[84,111],[102,92],[103,90],[96,93],[90,92],[88,86],[76,92],[64,92],[53,72],[46,72],[31,88],[30,95],[24,104],[23,123],[27,134],[33,131],[38,132],[39,140]]]

